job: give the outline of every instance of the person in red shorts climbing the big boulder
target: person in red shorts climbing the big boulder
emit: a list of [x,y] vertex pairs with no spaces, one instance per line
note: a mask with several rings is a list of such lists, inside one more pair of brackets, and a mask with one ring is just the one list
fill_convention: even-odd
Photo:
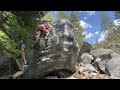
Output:
[[39,31],[36,33],[37,35],[35,36],[35,38],[36,38],[35,43],[37,43],[41,32],[45,32],[46,33],[45,39],[48,39],[49,30],[46,29],[48,25],[49,25],[48,22],[45,22],[44,24],[38,25]]

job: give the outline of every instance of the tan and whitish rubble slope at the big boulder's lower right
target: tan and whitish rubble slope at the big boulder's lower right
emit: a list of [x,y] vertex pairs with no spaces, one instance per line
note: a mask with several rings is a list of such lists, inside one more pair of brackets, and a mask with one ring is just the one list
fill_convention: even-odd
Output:
[[80,63],[75,69],[76,72],[72,77],[77,79],[111,79],[110,76],[98,72],[91,64]]

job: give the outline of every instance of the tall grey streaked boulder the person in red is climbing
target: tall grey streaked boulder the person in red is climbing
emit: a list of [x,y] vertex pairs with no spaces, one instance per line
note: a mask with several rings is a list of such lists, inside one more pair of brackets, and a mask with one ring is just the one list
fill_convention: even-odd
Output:
[[48,40],[44,39],[44,34],[41,35],[35,48],[34,61],[24,78],[39,78],[56,69],[74,70],[78,47],[73,26],[67,20],[60,20],[52,24],[52,27]]

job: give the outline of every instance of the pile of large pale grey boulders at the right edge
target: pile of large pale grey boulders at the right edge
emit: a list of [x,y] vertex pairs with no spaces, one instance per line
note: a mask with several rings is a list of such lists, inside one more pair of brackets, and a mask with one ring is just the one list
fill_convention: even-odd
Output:
[[91,64],[101,74],[109,75],[111,79],[120,79],[120,55],[113,50],[101,48],[87,54],[82,53],[80,57],[82,63]]

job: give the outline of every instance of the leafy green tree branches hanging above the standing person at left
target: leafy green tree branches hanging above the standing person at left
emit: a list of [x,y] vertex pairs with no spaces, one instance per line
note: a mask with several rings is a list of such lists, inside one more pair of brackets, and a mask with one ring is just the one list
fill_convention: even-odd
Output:
[[0,11],[0,50],[1,53],[16,56],[20,40],[27,46],[31,44],[31,31],[46,12],[38,11]]

